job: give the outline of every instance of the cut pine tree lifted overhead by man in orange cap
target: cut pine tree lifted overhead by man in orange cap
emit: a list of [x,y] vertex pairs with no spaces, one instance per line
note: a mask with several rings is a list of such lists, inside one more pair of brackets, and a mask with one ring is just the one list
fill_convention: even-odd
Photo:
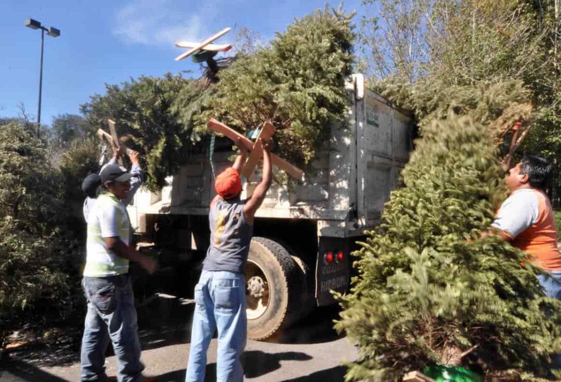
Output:
[[218,116],[244,133],[272,121],[283,157],[309,162],[329,125],[344,121],[347,112],[353,16],[326,6],[295,19],[269,46],[241,54],[219,72],[205,117]]

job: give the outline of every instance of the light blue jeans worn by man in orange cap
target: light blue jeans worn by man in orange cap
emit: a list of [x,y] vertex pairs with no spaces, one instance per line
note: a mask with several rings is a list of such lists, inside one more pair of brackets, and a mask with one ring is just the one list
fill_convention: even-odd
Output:
[[245,348],[247,319],[245,279],[227,271],[203,271],[195,285],[195,313],[186,382],[203,382],[206,351],[218,329],[217,381],[243,380],[240,356]]

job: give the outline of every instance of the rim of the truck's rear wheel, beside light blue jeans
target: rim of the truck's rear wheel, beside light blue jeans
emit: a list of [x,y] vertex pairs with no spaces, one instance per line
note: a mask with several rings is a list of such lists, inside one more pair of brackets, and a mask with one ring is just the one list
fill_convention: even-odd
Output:
[[269,280],[263,269],[251,260],[247,260],[246,280],[246,315],[248,320],[256,320],[269,307]]

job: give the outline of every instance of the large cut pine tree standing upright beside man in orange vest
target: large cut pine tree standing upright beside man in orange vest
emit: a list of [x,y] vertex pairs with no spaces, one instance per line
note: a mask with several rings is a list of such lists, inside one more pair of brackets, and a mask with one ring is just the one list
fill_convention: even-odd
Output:
[[355,253],[351,293],[339,296],[337,329],[360,351],[347,379],[398,380],[431,364],[534,378],[561,351],[561,303],[521,266],[525,254],[495,236],[468,240],[506,196],[487,131],[456,116],[425,126],[384,224]]

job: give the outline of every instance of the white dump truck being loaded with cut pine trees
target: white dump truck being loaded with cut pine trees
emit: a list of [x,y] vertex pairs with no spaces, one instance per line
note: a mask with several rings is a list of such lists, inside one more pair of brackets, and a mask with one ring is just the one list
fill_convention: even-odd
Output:
[[[273,183],[256,212],[245,274],[249,338],[269,338],[312,308],[335,303],[332,291],[346,292],[350,253],[365,230],[379,224],[384,203],[399,185],[412,149],[410,113],[367,89],[360,74],[352,75],[346,89],[347,123],[330,125],[330,138],[303,179]],[[140,189],[128,207],[137,233],[155,238],[155,245],[173,242],[199,271],[210,240],[213,170],[219,174],[231,166],[234,154],[227,138],[218,138],[213,149],[208,143],[197,144],[160,192]],[[259,180],[257,166],[249,179],[242,178],[242,199]],[[196,275],[182,279],[188,278]]]

